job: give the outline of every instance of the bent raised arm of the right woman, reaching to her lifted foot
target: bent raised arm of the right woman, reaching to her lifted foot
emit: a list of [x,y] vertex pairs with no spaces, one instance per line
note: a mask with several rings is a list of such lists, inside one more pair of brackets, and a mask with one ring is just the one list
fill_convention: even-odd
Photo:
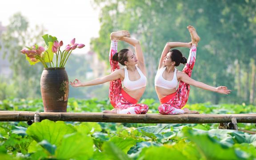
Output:
[[164,57],[167,55],[167,53],[169,52],[169,50],[171,48],[176,48],[176,47],[191,47],[192,42],[189,43],[183,43],[183,42],[167,42],[164,46],[164,50],[162,52],[161,58],[160,58],[160,62],[158,65],[158,69],[163,67],[163,61],[164,61]]

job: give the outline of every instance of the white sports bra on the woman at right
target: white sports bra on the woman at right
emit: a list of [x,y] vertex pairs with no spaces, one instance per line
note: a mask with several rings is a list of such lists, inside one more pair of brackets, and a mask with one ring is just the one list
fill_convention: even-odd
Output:
[[175,68],[174,74],[173,74],[173,79],[172,80],[165,80],[163,78],[163,73],[165,71],[166,67],[160,68],[155,77],[155,86],[165,88],[165,89],[174,89],[178,85],[178,80],[177,80],[177,69]]

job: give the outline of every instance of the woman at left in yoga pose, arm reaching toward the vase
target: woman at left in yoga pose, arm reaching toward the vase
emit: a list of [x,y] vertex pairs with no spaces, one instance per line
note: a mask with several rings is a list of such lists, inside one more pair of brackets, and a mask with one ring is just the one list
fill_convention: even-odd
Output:
[[[84,87],[110,81],[109,99],[115,109],[104,111],[104,113],[145,114],[148,112],[148,106],[146,104],[137,104],[145,91],[147,83],[144,56],[140,42],[129,38],[130,33],[128,31],[112,32],[110,37],[109,61],[112,73],[84,83],[77,79],[70,83],[73,87]],[[117,52],[118,40],[133,45],[136,55],[129,49],[122,49]],[[118,62],[125,67],[120,69]],[[124,83],[124,88],[122,88],[121,81]]]

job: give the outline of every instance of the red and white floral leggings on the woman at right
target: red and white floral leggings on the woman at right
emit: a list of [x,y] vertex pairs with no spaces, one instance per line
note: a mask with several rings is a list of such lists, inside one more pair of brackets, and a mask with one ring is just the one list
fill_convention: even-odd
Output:
[[[188,61],[182,72],[186,73],[189,77],[191,77],[192,69],[196,62],[196,45],[192,45],[190,48]],[[177,92],[172,93],[161,99],[161,105],[158,107],[158,111],[161,114],[180,114],[184,113],[183,109],[180,109],[185,106],[188,101],[190,85],[186,84],[183,81],[180,81]]]

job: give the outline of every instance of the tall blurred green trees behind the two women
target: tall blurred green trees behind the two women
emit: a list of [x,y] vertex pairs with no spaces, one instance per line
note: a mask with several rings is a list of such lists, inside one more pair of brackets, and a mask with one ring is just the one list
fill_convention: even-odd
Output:
[[[249,95],[256,92],[251,76],[255,62],[250,62],[256,58],[255,0],[94,0],[94,5],[100,7],[101,26],[99,37],[91,44],[108,65],[105,53],[111,32],[128,30],[140,40],[148,70],[144,98],[157,99],[153,80],[164,45],[191,41],[186,27],[193,25],[201,41],[192,78],[213,86],[228,86],[232,93],[223,96],[192,87],[188,102],[255,104],[255,98],[249,101]],[[118,50],[122,48],[128,46],[119,42]],[[178,49],[188,57],[188,49]]]

